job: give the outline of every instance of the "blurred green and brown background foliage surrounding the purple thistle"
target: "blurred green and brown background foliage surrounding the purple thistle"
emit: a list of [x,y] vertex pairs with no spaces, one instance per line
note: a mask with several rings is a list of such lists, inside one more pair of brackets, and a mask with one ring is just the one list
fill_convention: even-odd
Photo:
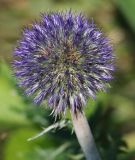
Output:
[[0,0],[0,160],[84,160],[71,124],[27,141],[54,119],[24,97],[11,67],[22,28],[41,12],[68,9],[93,17],[116,54],[112,88],[85,110],[100,154],[135,160],[135,0]]

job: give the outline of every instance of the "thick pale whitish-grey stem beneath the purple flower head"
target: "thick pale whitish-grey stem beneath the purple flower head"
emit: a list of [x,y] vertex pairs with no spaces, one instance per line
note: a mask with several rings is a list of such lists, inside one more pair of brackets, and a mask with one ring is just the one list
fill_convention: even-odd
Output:
[[71,112],[76,136],[82,147],[86,160],[101,160],[97,151],[92,132],[84,113]]

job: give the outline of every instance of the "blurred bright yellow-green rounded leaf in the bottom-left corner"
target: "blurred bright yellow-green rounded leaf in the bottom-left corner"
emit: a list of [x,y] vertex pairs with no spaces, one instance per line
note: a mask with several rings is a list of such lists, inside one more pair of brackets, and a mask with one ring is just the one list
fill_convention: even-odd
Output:
[[13,131],[5,144],[4,160],[32,160],[29,153],[34,154],[39,146],[44,145],[44,150],[46,150],[49,146],[55,145],[55,141],[49,136],[28,142],[27,139],[36,132],[34,128],[21,128]]

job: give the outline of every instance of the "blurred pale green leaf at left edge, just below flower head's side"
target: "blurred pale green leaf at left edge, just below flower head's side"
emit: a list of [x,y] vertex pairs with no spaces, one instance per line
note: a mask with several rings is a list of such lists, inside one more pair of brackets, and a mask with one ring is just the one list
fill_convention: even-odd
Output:
[[[0,63],[0,124],[7,127],[5,123],[13,125],[28,124],[23,114],[15,112],[14,109],[23,109],[25,104],[18,95],[13,81],[13,75],[7,64]],[[12,126],[13,127],[13,126]]]

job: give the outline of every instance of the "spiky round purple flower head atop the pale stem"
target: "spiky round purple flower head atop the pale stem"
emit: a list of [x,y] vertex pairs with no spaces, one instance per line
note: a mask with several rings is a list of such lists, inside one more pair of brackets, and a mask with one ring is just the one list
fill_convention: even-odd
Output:
[[114,70],[108,38],[93,20],[71,11],[42,14],[24,29],[14,55],[19,85],[55,115],[81,112],[89,97],[106,91]]

